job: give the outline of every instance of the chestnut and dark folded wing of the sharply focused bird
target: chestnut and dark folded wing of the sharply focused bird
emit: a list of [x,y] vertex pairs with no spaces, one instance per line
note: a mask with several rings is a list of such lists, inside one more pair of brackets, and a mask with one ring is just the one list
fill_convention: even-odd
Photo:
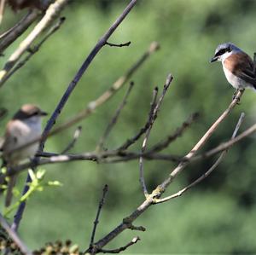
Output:
[[224,61],[224,66],[256,89],[256,67],[249,55],[244,52],[230,55]]

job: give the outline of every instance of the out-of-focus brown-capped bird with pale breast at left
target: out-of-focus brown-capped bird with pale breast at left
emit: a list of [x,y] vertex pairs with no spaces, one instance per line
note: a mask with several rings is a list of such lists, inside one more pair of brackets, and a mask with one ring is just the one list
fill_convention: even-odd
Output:
[[[23,159],[32,158],[37,153],[39,142],[35,142],[25,148],[20,147],[34,141],[41,135],[41,118],[45,115],[47,113],[44,113],[37,106],[26,104],[9,121],[1,148],[3,150],[4,164],[7,167],[14,167]],[[6,206],[10,204],[14,185],[15,177],[10,177],[6,195]]]

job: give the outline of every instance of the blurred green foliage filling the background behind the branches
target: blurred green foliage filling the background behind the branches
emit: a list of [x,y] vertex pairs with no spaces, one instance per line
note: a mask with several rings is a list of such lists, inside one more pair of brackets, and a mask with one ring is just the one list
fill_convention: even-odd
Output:
[[[9,109],[9,118],[26,102],[37,103],[51,113],[85,56],[128,2],[73,1],[63,13],[67,20],[61,30],[1,89],[0,107]],[[174,81],[149,143],[160,141],[190,113],[198,111],[201,119],[166,149],[166,153],[185,154],[224,111],[233,94],[221,65],[210,64],[209,59],[218,43],[226,41],[236,43],[253,55],[256,50],[255,8],[253,0],[139,1],[110,40],[112,43],[131,41],[131,46],[102,49],[57,123],[70,118],[101,95],[143,54],[150,42],[158,41],[160,51],[132,78],[135,88],[108,139],[108,148],[117,147],[143,126],[154,86],[161,88],[166,74],[172,72]],[[15,24],[22,14],[7,11],[3,28]],[[6,50],[2,66],[20,40]],[[119,91],[113,100],[82,122],[83,132],[73,153],[96,147],[124,93],[125,89]],[[246,113],[246,120],[241,130],[255,122],[255,96],[252,90],[245,92],[241,105],[218,128],[204,150],[229,139],[242,111]],[[2,133],[4,125],[0,123]],[[72,138],[73,130],[75,127],[50,138],[46,151],[60,152]],[[138,218],[136,224],[146,227],[145,233],[127,230],[108,247],[123,246],[134,235],[139,235],[142,241],[126,253],[255,252],[254,139],[255,136],[250,136],[232,148],[218,171],[188,194],[154,206]],[[132,149],[140,146],[138,142]],[[194,180],[214,159],[189,165],[166,194]],[[154,188],[174,166],[170,162],[147,162],[148,186]],[[105,183],[109,185],[109,193],[96,238],[106,235],[143,201],[137,160],[116,165],[72,162],[45,168],[46,177],[59,180],[63,186],[45,189],[28,201],[20,235],[34,248],[43,246],[46,241],[68,238],[86,248]],[[25,173],[20,177],[20,188],[25,177]]]

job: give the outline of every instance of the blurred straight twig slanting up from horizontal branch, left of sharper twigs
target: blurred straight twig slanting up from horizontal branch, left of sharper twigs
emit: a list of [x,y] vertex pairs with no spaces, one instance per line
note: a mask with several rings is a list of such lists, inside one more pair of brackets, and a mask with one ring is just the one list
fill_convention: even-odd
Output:
[[127,103],[127,98],[131,93],[132,88],[134,87],[134,83],[131,82],[129,85],[129,88],[127,90],[127,92],[125,93],[125,97],[123,99],[123,101],[121,101],[119,107],[117,108],[116,112],[113,114],[113,118],[111,119],[111,121],[109,122],[106,130],[103,133],[102,138],[100,139],[100,142],[96,148],[96,151],[101,151],[103,146],[104,146],[104,142],[107,140],[111,130],[113,129],[113,126],[117,123],[117,120],[119,118],[119,114],[121,113],[122,109],[125,107],[125,104]]

